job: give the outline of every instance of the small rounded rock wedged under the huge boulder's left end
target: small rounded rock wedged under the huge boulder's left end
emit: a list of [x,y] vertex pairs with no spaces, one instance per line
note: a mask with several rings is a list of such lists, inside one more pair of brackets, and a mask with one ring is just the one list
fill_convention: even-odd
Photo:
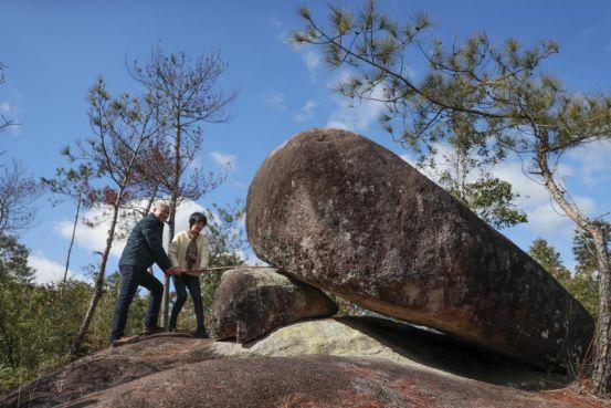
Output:
[[285,324],[330,316],[337,305],[308,284],[277,273],[273,268],[239,268],[221,278],[212,304],[213,338],[249,342]]

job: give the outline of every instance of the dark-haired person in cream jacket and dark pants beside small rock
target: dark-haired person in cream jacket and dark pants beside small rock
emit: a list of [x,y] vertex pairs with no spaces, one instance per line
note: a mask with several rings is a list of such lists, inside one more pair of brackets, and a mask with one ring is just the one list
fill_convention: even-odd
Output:
[[183,274],[175,275],[173,286],[176,289],[176,302],[170,315],[169,331],[176,331],[176,321],[182,305],[187,301],[187,289],[193,301],[193,310],[198,322],[196,337],[208,337],[203,326],[203,304],[201,300],[201,284],[199,275],[208,266],[208,240],[201,231],[208,219],[201,212],[193,212],[189,217],[189,230],[177,233],[169,248],[169,258],[172,266],[180,266]]

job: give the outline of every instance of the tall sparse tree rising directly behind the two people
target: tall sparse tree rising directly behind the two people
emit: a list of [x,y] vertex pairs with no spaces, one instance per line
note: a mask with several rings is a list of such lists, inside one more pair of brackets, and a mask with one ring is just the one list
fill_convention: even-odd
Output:
[[[217,91],[217,83],[228,65],[219,52],[189,59],[183,52],[166,54],[157,46],[150,61],[135,61],[129,74],[155,95],[164,138],[154,151],[156,166],[145,169],[146,177],[158,184],[159,193],[169,197],[169,240],[176,232],[176,211],[186,200],[197,200],[214,189],[224,174],[204,174],[192,166],[203,143],[202,124],[231,119],[229,105],[236,93]],[[169,278],[164,283],[161,325],[168,324]]]

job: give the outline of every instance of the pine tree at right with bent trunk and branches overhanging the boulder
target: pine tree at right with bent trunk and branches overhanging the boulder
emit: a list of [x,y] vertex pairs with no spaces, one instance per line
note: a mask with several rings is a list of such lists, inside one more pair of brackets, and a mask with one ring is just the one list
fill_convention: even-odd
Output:
[[[324,49],[330,66],[356,70],[337,91],[383,104],[380,122],[394,139],[421,154],[439,140],[462,138],[481,153],[528,158],[531,176],[577,228],[592,237],[600,272],[592,384],[597,394],[611,391],[611,260],[603,216],[584,215],[557,167],[571,149],[609,143],[611,96],[570,92],[544,72],[541,62],[559,51],[552,41],[524,49],[508,39],[498,46],[476,33],[445,46],[439,38],[426,38],[426,15],[396,21],[375,1],[358,14],[331,8],[330,28],[315,21],[307,8],[301,15],[305,29],[292,40]],[[429,66],[420,80],[410,73],[414,55]]]

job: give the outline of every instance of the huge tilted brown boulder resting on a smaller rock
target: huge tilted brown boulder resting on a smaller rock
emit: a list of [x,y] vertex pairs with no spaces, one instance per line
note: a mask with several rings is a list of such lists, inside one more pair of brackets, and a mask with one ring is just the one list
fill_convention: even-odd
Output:
[[259,258],[383,315],[533,364],[586,352],[588,312],[537,262],[392,151],[309,129],[265,159],[247,196]]

